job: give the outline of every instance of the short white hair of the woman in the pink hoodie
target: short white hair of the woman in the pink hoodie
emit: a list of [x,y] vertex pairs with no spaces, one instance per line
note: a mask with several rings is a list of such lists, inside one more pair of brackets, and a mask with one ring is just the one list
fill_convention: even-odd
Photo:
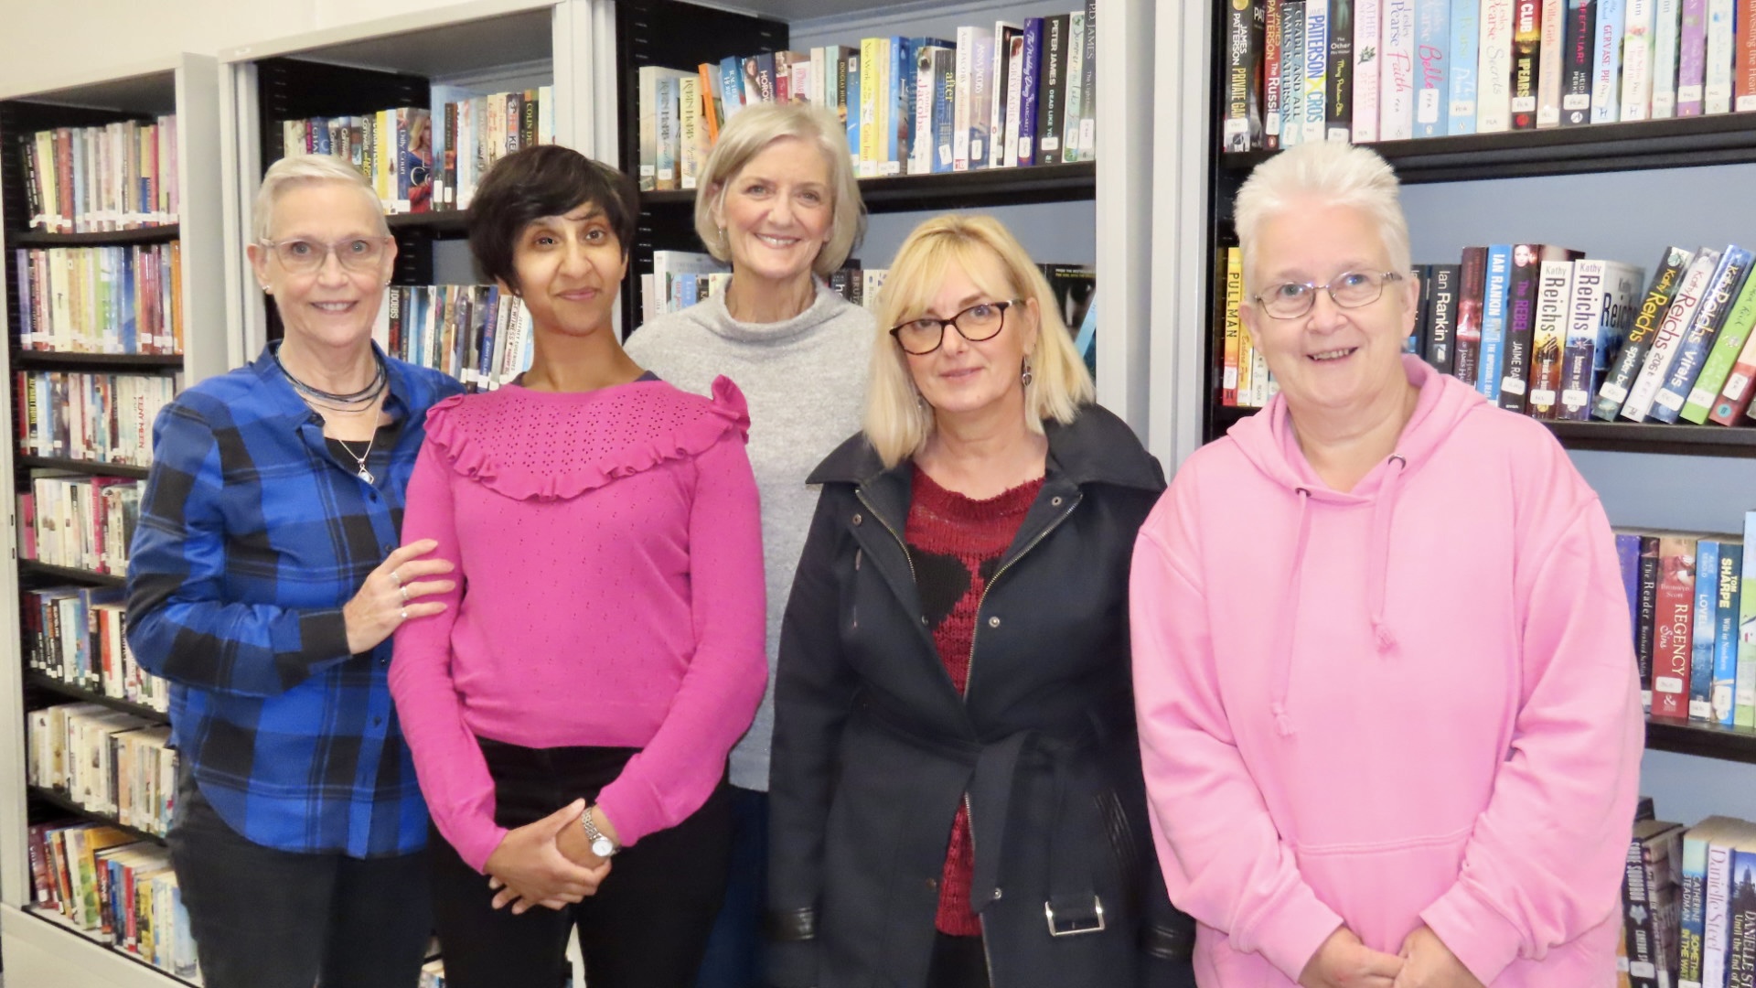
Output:
[[1378,227],[1391,271],[1408,271],[1408,218],[1400,190],[1396,171],[1377,151],[1338,141],[1294,144],[1256,165],[1238,190],[1234,209],[1245,294],[1256,290],[1254,255],[1263,223],[1312,202],[1364,211]]

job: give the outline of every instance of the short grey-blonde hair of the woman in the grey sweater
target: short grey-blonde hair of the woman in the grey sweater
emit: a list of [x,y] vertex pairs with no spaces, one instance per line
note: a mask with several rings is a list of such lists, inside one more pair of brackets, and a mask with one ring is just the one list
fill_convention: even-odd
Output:
[[695,195],[695,234],[708,253],[730,264],[732,251],[720,236],[713,211],[725,200],[725,186],[745,171],[750,158],[781,137],[797,137],[824,155],[829,165],[829,199],[832,218],[829,243],[817,251],[811,271],[829,278],[841,267],[853,248],[866,237],[866,200],[848,158],[846,132],[836,114],[813,104],[759,104],[738,111],[738,116],[720,130],[720,141],[701,169],[701,193]]

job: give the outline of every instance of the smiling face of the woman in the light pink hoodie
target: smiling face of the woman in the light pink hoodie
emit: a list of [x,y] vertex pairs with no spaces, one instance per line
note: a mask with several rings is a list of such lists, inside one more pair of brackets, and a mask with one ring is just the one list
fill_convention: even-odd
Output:
[[1403,339],[1414,332],[1414,280],[1387,281],[1378,301],[1343,309],[1315,292],[1312,311],[1271,318],[1256,295],[1273,285],[1328,285],[1347,271],[1393,271],[1371,216],[1352,206],[1294,202],[1263,220],[1250,258],[1250,290],[1238,315],[1287,396],[1287,408],[1370,408],[1408,387]]

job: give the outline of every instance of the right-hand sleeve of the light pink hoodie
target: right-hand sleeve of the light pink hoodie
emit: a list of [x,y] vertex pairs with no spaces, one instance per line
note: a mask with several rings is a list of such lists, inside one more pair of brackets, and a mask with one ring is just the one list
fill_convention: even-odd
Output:
[[[1572,482],[1584,489],[1577,475]],[[1554,526],[1558,538],[1524,540],[1510,751],[1457,883],[1421,914],[1484,984],[1617,907],[1645,724],[1616,538],[1598,499],[1580,494],[1586,505]]]

